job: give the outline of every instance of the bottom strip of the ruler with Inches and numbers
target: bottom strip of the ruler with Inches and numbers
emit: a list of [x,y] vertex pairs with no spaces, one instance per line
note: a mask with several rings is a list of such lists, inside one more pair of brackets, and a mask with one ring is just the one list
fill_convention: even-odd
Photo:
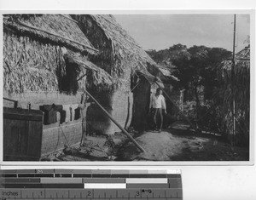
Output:
[[[3,191],[3,192],[2,192]],[[4,194],[5,192],[5,194]],[[9,195],[7,193],[17,193],[17,195]],[[96,193],[95,193],[96,192]],[[141,193],[140,193],[141,192]],[[98,195],[96,195],[98,194]],[[16,196],[16,197],[15,197]],[[101,190],[74,190],[68,189],[65,191],[64,189],[11,189],[5,188],[0,191],[0,200],[2,198],[7,199],[22,199],[22,200],[32,200],[32,199],[44,199],[44,198],[53,199],[77,199],[77,198],[86,198],[87,200],[96,200],[97,198],[102,200],[117,200],[117,199],[125,199],[125,198],[137,198],[140,199],[147,199],[147,200],[160,200],[160,199],[183,199],[182,188],[169,188],[169,189],[128,189],[128,190],[113,190],[113,189],[101,189]]]

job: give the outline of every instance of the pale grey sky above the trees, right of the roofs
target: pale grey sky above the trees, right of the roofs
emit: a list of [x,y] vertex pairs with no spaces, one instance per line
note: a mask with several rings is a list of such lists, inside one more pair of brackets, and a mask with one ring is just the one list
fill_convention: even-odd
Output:
[[[115,19],[143,49],[168,49],[181,43],[232,51],[233,14],[115,14]],[[249,14],[236,14],[236,52],[247,46]]]

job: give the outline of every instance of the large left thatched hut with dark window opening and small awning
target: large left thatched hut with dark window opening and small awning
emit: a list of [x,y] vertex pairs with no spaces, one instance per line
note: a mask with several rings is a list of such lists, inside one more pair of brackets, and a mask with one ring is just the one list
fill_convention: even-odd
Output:
[[[34,110],[61,105],[72,116],[66,116],[62,128],[59,121],[44,124],[42,154],[79,142],[82,119],[73,115],[83,87],[106,89],[112,84],[108,72],[88,60],[91,54],[98,50],[68,14],[3,16],[3,97],[18,100],[18,107],[31,104]],[[9,102],[4,100],[3,106]]]

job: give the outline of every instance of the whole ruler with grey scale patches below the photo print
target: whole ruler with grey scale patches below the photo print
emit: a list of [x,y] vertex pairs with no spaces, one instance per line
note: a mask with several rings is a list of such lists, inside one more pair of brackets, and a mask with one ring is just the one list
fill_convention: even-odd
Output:
[[2,170],[0,200],[182,200],[180,170]]

